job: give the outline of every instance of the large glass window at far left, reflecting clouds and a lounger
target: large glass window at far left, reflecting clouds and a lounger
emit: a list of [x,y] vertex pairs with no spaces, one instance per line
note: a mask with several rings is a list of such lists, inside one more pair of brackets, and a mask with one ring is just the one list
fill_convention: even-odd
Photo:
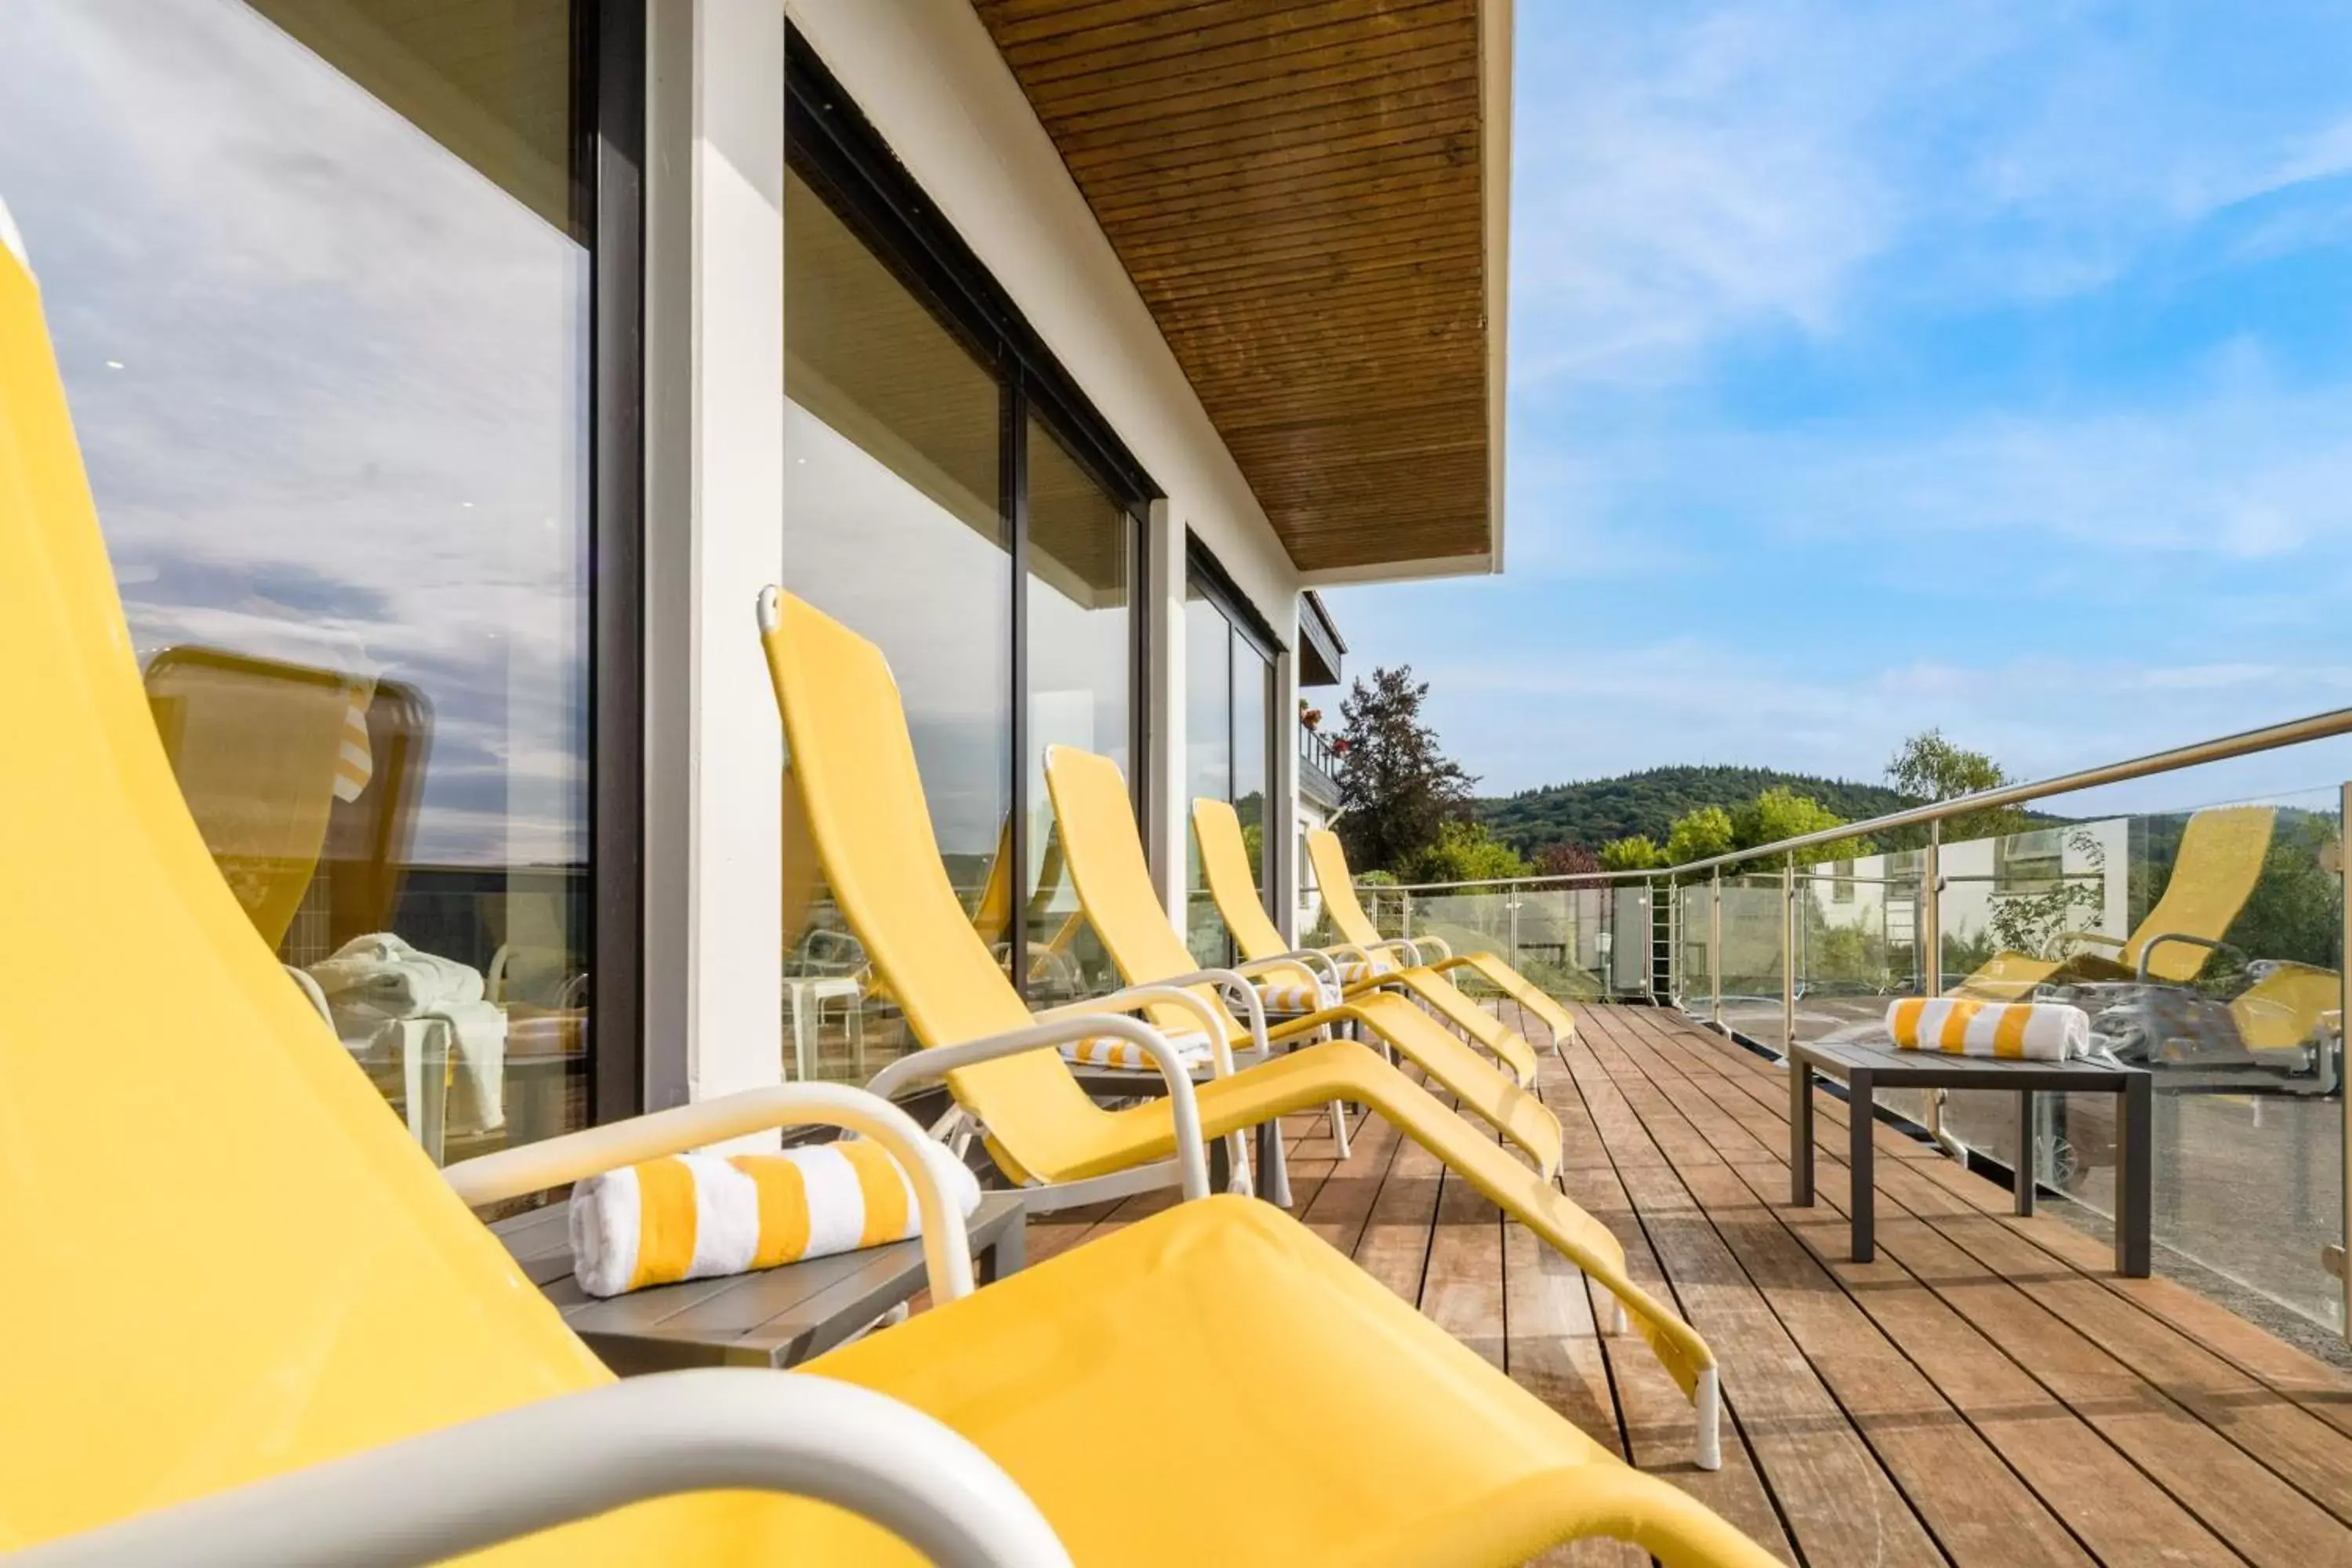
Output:
[[0,190],[172,764],[452,1159],[588,1110],[574,9],[0,7]]

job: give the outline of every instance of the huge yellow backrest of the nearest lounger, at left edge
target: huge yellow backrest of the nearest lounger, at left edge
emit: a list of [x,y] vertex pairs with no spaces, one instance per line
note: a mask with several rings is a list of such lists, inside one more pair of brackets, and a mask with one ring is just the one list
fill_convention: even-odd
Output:
[[[607,1382],[214,870],[5,247],[0,670],[0,1554]],[[689,1497],[494,1561],[710,1559],[816,1514]]]

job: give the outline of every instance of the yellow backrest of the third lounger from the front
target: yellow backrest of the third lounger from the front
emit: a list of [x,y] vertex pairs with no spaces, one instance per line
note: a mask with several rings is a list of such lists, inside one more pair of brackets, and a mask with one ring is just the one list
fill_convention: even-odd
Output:
[[[1143,858],[1143,835],[1136,832],[1136,811],[1120,764],[1075,745],[1049,745],[1044,785],[1054,795],[1061,853],[1070,865],[1077,900],[1087,910],[1087,924],[1103,938],[1110,961],[1129,985],[1171,980],[1200,969],[1152,886],[1152,867]],[[1192,992],[1207,997],[1230,1032],[1240,1034],[1240,1025],[1211,987],[1195,985]],[[1176,1006],[1152,1009],[1152,1023],[1164,1030],[1200,1032],[1200,1018]]]

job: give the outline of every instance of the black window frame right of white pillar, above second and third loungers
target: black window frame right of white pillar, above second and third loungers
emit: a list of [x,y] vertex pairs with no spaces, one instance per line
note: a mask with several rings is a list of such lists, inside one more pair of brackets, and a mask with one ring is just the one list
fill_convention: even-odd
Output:
[[[1148,541],[1150,503],[1162,498],[1077,381],[1061,367],[1028,317],[997,284],[955,226],[931,205],[915,176],[889,150],[882,134],[858,113],[851,96],[826,71],[797,28],[786,26],[786,162],[818,200],[948,327],[974,357],[997,376],[1000,461],[997,512],[1009,541],[1011,571],[1011,778],[1007,802],[1014,860],[1009,954],[1014,985],[1028,990],[1028,421],[1035,418],[1129,520],[1129,693],[1127,755],[1136,820],[1148,820],[1143,759],[1150,755],[1150,635],[1148,635]],[[790,235],[786,235],[790,244]]]

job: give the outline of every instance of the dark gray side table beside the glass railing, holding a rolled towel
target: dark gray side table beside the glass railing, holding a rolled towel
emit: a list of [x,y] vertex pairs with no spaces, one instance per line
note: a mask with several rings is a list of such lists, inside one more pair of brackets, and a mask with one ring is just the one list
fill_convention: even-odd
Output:
[[2112,1093],[2122,1098],[2114,1147],[2114,1272],[2147,1279],[2152,1100],[2140,1067],[2098,1060],[2018,1063],[1990,1056],[1898,1051],[1891,1044],[1813,1041],[1788,1053],[1788,1201],[1813,1204],[1813,1077],[1846,1086],[1853,1105],[1846,1164],[1853,1171],[1853,1260],[1870,1262],[1877,1187],[1872,1185],[1875,1088],[1999,1088],[2018,1095],[2018,1213],[2034,1211],[2034,1095]]

